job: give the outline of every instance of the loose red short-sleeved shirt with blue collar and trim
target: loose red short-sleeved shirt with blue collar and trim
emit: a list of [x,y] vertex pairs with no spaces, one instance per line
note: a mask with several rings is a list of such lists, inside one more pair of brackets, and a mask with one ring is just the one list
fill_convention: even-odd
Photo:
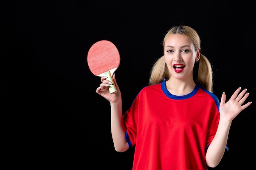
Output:
[[219,104],[198,84],[184,96],[169,93],[165,81],[144,87],[123,116],[126,140],[136,145],[132,170],[207,170]]

